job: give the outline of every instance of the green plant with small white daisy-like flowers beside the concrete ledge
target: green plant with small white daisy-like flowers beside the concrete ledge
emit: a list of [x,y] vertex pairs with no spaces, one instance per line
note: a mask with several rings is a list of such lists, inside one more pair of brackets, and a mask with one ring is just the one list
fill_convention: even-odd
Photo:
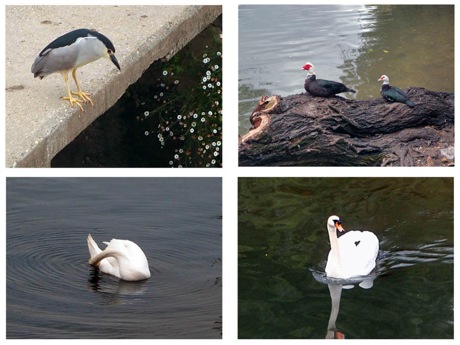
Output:
[[172,146],[171,167],[222,166],[222,35],[196,51],[156,66],[154,106],[138,117],[159,120],[145,135],[155,135],[162,149]]

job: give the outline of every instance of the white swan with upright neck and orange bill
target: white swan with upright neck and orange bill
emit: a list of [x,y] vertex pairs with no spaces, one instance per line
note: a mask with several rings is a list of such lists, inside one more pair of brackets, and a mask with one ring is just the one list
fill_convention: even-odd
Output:
[[338,216],[328,219],[329,251],[326,273],[328,277],[348,279],[367,275],[375,267],[379,253],[379,240],[370,231],[350,231],[337,239],[337,232],[344,229]]

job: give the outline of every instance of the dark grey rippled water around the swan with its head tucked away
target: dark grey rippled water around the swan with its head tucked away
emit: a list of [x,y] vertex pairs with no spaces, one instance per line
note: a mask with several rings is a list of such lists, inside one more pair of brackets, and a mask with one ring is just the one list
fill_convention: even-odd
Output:
[[[8,178],[7,338],[221,338],[220,178]],[[88,265],[141,246],[152,277]]]

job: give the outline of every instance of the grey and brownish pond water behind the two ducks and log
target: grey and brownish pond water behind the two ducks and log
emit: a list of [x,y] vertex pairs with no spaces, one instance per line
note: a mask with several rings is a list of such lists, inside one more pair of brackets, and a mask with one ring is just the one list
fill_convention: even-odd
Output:
[[453,5],[241,5],[239,133],[263,94],[305,92],[305,62],[317,78],[379,98],[381,75],[400,88],[454,92]]

